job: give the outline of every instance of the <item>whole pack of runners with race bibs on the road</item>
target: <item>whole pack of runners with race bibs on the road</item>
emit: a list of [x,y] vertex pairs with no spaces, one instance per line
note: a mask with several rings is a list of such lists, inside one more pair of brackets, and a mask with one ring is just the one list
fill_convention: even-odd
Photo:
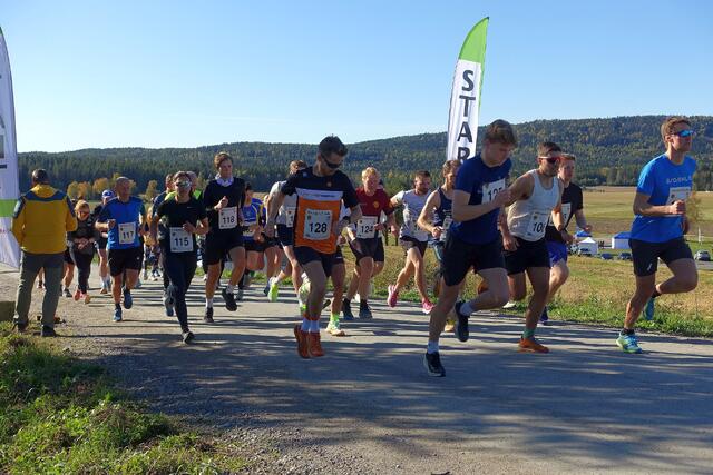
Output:
[[[661,132],[666,152],[642,170],[634,201],[631,247],[636,291],[616,340],[627,353],[641,353],[634,327],[643,310],[647,317],[653,315],[655,298],[688,291],[697,284],[693,256],[683,238],[687,230],[685,200],[695,171],[695,161],[686,155],[693,130],[686,118],[674,117],[662,125]],[[413,278],[421,309],[430,315],[423,358],[429,375],[446,374],[439,338],[449,315],[455,315],[456,337],[467,342],[469,317],[524,299],[527,280],[533,294],[518,348],[548,353],[535,334],[538,323],[548,323],[547,304],[569,275],[567,246],[574,238],[568,225],[574,217],[578,228],[590,231],[592,227],[584,215],[582,189],[572,181],[576,157],[555,142],[541,142],[537,167],[509,182],[510,155],[516,146],[511,125],[496,120],[486,128],[478,155],[463,162],[443,164],[443,182],[434,191],[430,189],[430,174],[423,170],[416,172],[411,189],[392,197],[383,189],[374,167],[367,167],[361,174],[362,185],[353,187],[339,169],[348,149],[334,136],[320,142],[313,165],[291,162],[286,180],[276,182],[264,201],[253,196],[250,184],[234,176],[233,158],[226,152],[215,156],[216,175],[203,192],[196,190],[193,172],[167,176],[166,191],[154,200],[149,214],[139,198],[130,196],[130,180],[120,177],[114,191],[102,194],[102,204],[94,214],[86,201],[77,204],[79,219],[86,220],[69,236],[72,260],[82,263],[78,264],[77,293],[88,296],[88,266],[82,253],[96,243],[102,291],[109,285],[105,275],[108,268],[114,320],[121,321],[123,310],[133,306],[131,289],[146,240],[152,255],[160,256],[166,314],[175,313],[183,340],[189,343],[194,335],[185,296],[197,268],[198,250],[206,270],[206,323],[213,323],[214,295],[227,261],[232,270],[221,296],[228,311],[237,309],[236,300],[242,298],[252,273],[265,267],[268,280],[264,293],[270,300],[277,299],[279,286],[287,277],[299,296],[302,321],[293,328],[297,353],[303,358],[320,357],[324,355],[320,316],[325,307],[331,313],[326,330],[334,336],[344,335],[341,316],[354,318],[351,303],[356,294],[358,316],[372,318],[371,283],[383,270],[382,234],[390,231],[398,235],[406,257],[395,283],[388,288],[387,303],[395,307],[399,293]],[[395,210],[400,207],[403,221],[398,227]],[[343,244],[354,255],[346,289]],[[429,246],[440,265],[436,304],[426,286]],[[656,285],[658,258],[673,277]],[[470,271],[481,281],[476,297],[465,300],[459,296]],[[328,279],[333,285],[331,301],[325,299]]]

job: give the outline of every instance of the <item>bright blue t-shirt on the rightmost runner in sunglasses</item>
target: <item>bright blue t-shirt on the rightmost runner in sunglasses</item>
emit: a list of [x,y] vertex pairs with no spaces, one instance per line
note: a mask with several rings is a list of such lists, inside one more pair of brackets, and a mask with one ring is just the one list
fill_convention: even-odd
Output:
[[[651,160],[638,176],[636,191],[648,195],[653,206],[672,205],[685,200],[693,189],[696,162],[686,156],[683,164],[674,165],[664,154]],[[683,236],[683,216],[641,216],[632,222],[632,239],[665,243]]]

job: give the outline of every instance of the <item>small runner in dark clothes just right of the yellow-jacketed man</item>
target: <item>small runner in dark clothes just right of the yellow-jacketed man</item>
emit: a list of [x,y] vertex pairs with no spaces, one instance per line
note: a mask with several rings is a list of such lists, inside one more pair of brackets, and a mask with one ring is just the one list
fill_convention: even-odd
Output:
[[67,232],[67,240],[71,243],[69,253],[75,261],[79,276],[77,277],[77,290],[75,300],[82,300],[89,304],[89,276],[91,275],[91,261],[94,260],[95,243],[101,235],[95,228],[95,220],[91,216],[89,204],[84,199],[77,201],[75,206],[77,214],[77,229]]

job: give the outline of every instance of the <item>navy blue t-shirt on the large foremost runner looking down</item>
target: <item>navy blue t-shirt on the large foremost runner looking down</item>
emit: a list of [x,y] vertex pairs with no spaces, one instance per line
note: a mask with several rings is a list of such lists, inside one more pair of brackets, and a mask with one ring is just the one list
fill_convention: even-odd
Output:
[[[499,191],[507,187],[505,181],[510,175],[510,168],[512,168],[512,161],[509,158],[498,167],[488,167],[478,154],[460,166],[456,177],[456,189],[470,194],[468,205],[490,202]],[[469,244],[492,243],[500,238],[499,214],[500,208],[496,208],[476,219],[456,221],[450,226],[450,232]]]

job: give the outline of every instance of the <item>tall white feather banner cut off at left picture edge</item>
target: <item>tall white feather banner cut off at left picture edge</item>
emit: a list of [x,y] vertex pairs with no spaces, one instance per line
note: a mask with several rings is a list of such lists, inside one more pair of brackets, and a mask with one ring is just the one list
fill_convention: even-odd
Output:
[[20,196],[18,147],[10,57],[0,29],[0,263],[20,267],[20,248],[12,235],[12,210]]

